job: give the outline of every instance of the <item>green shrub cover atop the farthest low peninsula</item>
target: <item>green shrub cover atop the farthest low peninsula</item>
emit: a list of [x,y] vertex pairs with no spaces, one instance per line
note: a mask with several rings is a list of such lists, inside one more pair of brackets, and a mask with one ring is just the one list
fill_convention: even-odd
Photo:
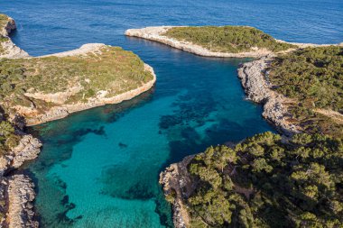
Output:
[[255,47],[273,51],[293,48],[291,44],[277,42],[272,36],[246,26],[173,27],[162,35],[219,52],[238,53]]

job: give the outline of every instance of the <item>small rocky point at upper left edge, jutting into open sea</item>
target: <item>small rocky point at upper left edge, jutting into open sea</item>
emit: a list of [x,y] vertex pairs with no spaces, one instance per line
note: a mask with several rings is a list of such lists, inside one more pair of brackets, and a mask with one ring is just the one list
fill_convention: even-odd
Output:
[[14,19],[8,17],[7,22],[0,28],[0,36],[5,37],[5,41],[0,42],[0,58],[19,59],[29,57],[29,54],[18,48],[9,38],[9,34],[16,29]]

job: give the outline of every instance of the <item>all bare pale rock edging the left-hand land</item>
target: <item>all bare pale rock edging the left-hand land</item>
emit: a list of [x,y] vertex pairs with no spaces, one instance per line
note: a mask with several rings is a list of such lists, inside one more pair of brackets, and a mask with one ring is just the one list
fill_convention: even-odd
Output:
[[[0,59],[32,58],[27,52],[18,48],[14,42],[11,41],[9,33],[15,29],[16,24],[14,19],[7,17],[7,22],[0,31],[0,36],[3,38],[2,42],[0,42],[0,45],[2,46]],[[89,52],[96,52],[105,46],[105,44],[91,43],[81,46],[78,50],[70,50],[37,58],[83,55]],[[151,89],[156,81],[156,76],[152,67],[144,63],[144,71],[150,72],[153,79],[142,84],[140,87],[136,87],[116,96],[107,97],[99,93],[98,96],[88,99],[87,103],[54,106],[49,112],[36,115],[32,118],[23,118],[25,112],[31,112],[32,110],[18,110],[18,112],[10,114],[7,118],[0,113],[0,121],[6,120],[12,123],[15,129],[15,135],[20,137],[17,146],[10,151],[7,151],[4,156],[0,156],[0,227],[39,227],[39,223],[34,217],[32,204],[35,198],[32,179],[27,175],[15,174],[14,172],[14,170],[20,168],[25,161],[37,158],[42,147],[42,142],[32,135],[26,134],[24,127],[64,118],[69,114],[100,105],[118,104],[125,100],[132,99],[134,96],[139,96]],[[60,96],[53,98],[60,99]],[[22,113],[20,111],[22,111]]]

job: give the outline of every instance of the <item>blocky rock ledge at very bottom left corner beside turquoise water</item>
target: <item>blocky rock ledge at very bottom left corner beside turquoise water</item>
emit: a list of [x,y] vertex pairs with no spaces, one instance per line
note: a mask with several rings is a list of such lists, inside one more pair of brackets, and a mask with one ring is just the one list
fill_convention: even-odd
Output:
[[6,187],[5,223],[8,228],[33,228],[38,227],[38,222],[33,219],[34,185],[32,179],[25,175],[13,175],[3,178],[2,187]]

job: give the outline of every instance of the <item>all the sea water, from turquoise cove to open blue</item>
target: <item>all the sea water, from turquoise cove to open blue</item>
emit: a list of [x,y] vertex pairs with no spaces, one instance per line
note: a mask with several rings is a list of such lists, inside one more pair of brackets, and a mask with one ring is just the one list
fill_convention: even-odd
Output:
[[209,145],[273,131],[245,100],[236,68],[247,59],[209,59],[125,38],[152,25],[251,25],[285,41],[343,41],[337,1],[1,1],[18,23],[14,42],[38,56],[104,42],[153,66],[156,86],[120,105],[91,109],[31,129],[43,141],[27,165],[42,227],[172,226],[158,174]]

